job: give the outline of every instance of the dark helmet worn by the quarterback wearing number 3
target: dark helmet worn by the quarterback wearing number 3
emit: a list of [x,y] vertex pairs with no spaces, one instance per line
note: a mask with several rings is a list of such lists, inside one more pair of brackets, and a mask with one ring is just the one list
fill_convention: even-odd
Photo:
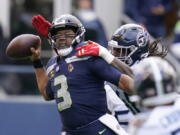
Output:
[[[69,46],[64,49],[58,49],[58,44],[56,40],[60,37],[62,37],[61,34],[58,34],[58,31],[60,30],[72,30],[75,35],[67,34],[63,35],[66,40],[67,38],[71,38],[72,42],[68,44],[67,42],[63,44],[63,46]],[[85,34],[85,28],[82,25],[82,23],[77,19],[75,16],[70,14],[64,14],[61,15],[58,18],[55,18],[52,22],[52,26],[49,29],[49,37],[50,37],[50,43],[52,47],[56,50],[56,52],[61,56],[66,56],[73,50],[73,44],[80,43],[84,39]]]

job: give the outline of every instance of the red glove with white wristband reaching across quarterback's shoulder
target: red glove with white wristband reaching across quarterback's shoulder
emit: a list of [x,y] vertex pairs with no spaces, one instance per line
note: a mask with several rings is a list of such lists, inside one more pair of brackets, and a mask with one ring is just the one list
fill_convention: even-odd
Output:
[[76,56],[100,56],[109,64],[114,59],[114,56],[106,48],[93,41],[88,41],[87,45],[78,47],[76,50]]

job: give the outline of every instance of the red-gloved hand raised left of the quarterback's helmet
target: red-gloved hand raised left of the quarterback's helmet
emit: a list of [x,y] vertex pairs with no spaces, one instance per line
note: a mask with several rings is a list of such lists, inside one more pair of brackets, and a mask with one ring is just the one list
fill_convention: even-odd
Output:
[[52,24],[47,21],[43,16],[33,16],[32,25],[39,33],[39,35],[48,38],[49,28],[52,26]]

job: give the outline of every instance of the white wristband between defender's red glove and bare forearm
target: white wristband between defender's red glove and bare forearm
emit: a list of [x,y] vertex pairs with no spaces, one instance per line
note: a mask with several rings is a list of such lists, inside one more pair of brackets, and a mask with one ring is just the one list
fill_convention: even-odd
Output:
[[99,56],[103,58],[108,64],[114,60],[114,56],[104,47],[99,45]]

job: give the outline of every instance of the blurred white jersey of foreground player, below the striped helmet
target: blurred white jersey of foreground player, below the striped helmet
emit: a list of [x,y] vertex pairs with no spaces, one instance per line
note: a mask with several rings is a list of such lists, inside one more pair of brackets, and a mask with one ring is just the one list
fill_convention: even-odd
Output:
[[131,135],[180,135],[180,107],[161,106],[139,114],[128,131]]

